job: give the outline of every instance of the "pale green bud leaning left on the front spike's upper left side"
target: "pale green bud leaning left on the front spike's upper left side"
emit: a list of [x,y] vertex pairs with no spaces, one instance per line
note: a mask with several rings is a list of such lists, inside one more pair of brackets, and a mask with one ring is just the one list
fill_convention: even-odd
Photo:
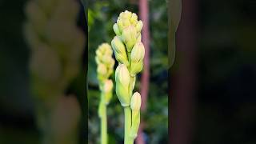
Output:
[[118,36],[115,36],[111,42],[111,46],[114,50],[114,56],[118,60],[118,62],[125,64],[126,66],[129,65],[127,54],[126,54],[126,47],[123,45],[122,41]]

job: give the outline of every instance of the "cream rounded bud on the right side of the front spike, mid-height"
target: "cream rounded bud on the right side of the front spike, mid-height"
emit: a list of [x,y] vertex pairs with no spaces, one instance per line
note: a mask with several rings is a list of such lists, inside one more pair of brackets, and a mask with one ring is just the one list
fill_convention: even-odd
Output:
[[137,42],[131,50],[130,59],[132,62],[140,62],[143,60],[145,55],[145,48],[142,42]]

